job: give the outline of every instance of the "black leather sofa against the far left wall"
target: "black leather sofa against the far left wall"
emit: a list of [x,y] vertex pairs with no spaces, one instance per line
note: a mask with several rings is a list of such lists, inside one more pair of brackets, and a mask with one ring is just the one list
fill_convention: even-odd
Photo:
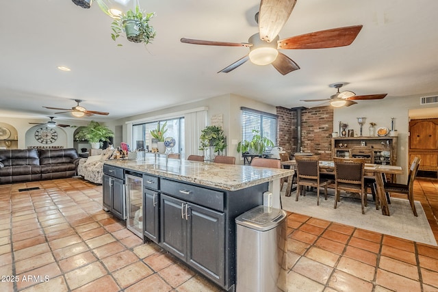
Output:
[[68,178],[79,159],[74,148],[0,149],[0,184]]

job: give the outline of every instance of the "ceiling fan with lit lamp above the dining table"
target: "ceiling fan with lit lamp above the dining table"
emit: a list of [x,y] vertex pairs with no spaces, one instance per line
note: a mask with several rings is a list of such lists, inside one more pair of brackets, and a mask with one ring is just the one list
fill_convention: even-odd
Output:
[[387,96],[387,93],[381,94],[369,94],[369,95],[356,95],[355,92],[350,90],[345,90],[343,92],[339,92],[339,88],[342,88],[344,83],[335,83],[330,85],[330,87],[336,88],[336,94],[330,96],[330,98],[323,99],[302,99],[301,101],[330,101],[331,106],[333,107],[349,107],[350,105],[355,105],[357,102],[355,101],[370,101],[372,99],[382,99]]

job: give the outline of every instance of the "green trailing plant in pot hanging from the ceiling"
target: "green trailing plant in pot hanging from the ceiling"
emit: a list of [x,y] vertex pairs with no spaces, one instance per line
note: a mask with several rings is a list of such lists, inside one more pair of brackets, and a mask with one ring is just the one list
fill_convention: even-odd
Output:
[[[149,25],[151,18],[155,16],[155,12],[146,12],[140,9],[134,1],[134,9],[128,10],[120,14],[120,17],[114,19],[111,24],[111,38],[116,41],[120,34],[125,31],[126,38],[131,42],[144,42],[149,44],[155,38],[155,29]],[[122,44],[118,44],[122,46]]]

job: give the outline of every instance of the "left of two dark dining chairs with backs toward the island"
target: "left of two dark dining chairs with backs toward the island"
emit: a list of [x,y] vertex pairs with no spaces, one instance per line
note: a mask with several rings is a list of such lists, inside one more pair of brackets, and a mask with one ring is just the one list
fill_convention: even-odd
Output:
[[297,156],[296,160],[296,198],[306,195],[306,187],[316,188],[316,204],[320,204],[320,187],[324,187],[324,198],[327,200],[327,185],[331,181],[320,176],[320,159],[318,156]]

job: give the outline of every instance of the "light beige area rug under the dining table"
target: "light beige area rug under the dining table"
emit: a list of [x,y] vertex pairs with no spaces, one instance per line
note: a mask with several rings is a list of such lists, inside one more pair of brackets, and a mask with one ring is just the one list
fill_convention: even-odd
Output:
[[409,201],[399,198],[391,198],[391,204],[389,204],[391,216],[382,215],[381,209],[376,210],[376,205],[372,200],[368,200],[368,207],[365,207],[363,215],[359,198],[342,197],[337,203],[337,209],[334,209],[333,194],[328,200],[324,200],[324,191],[322,191],[319,206],[316,204],[316,193],[307,192],[306,196],[298,198],[298,202],[295,200],[295,194],[294,191],[292,196],[286,197],[285,192],[281,192],[281,202],[285,211],[437,245],[420,202],[415,201],[418,217],[413,215]]

